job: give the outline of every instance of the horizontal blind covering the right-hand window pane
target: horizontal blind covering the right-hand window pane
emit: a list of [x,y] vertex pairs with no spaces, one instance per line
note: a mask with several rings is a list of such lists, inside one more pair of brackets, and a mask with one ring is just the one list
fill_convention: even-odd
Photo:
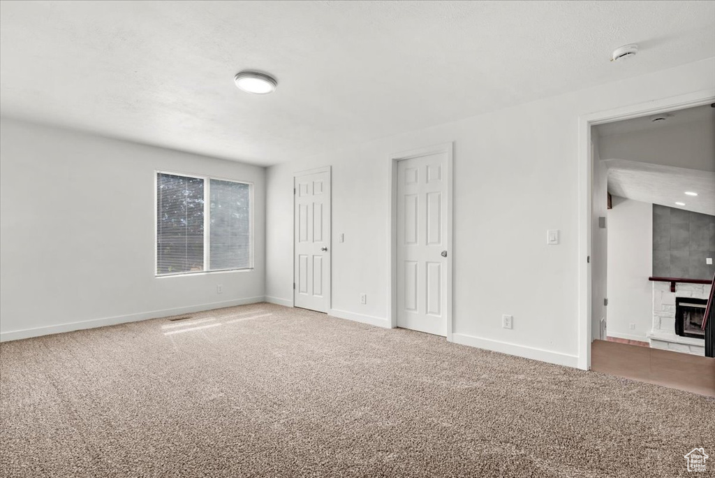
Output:
[[212,179],[209,191],[209,270],[250,268],[250,185]]

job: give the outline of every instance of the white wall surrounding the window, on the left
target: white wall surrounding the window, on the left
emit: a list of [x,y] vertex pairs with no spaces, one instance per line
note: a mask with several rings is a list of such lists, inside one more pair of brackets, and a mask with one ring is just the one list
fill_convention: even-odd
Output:
[[[154,277],[157,169],[254,182],[255,270]],[[265,295],[265,168],[2,119],[0,181],[3,339]]]

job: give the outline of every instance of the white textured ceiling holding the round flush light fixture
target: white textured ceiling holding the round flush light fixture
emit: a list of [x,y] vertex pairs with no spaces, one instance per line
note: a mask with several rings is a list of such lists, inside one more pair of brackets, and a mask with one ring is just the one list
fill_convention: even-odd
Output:
[[713,56],[713,1],[2,1],[0,113],[270,165]]

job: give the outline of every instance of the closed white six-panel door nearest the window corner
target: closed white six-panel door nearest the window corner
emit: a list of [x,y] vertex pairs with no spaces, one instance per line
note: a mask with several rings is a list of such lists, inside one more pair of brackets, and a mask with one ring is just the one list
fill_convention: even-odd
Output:
[[297,175],[295,194],[296,307],[330,309],[330,170]]

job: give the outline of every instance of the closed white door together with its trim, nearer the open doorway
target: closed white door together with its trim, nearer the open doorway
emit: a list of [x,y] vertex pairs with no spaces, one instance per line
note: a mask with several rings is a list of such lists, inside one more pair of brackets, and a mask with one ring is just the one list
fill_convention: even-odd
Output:
[[390,321],[453,333],[453,145],[390,158]]

